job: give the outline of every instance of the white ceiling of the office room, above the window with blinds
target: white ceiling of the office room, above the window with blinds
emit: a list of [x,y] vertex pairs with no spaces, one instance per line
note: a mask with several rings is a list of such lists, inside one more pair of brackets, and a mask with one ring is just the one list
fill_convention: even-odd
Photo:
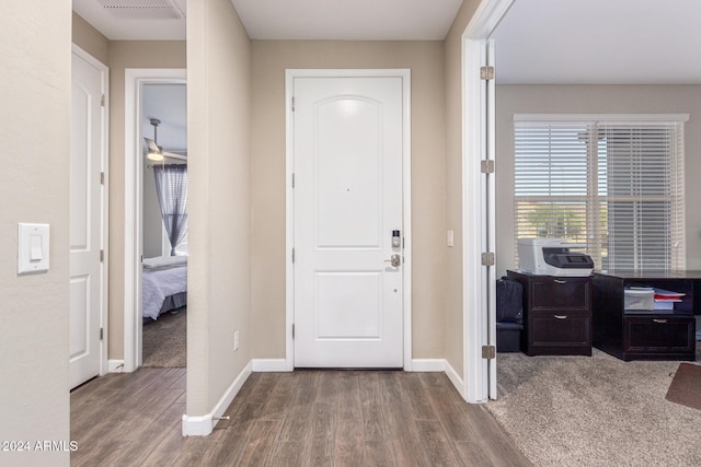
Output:
[[699,0],[515,0],[498,83],[701,83]]

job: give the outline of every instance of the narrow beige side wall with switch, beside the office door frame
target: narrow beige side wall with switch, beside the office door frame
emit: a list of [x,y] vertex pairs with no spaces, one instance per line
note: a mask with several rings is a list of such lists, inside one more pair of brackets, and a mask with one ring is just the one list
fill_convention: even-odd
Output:
[[[446,230],[455,232],[455,247],[446,250],[445,341],[443,355],[463,377],[462,328],[462,33],[478,0],[466,0],[446,37]],[[444,233],[445,237],[445,233]],[[444,241],[443,245],[446,243]]]

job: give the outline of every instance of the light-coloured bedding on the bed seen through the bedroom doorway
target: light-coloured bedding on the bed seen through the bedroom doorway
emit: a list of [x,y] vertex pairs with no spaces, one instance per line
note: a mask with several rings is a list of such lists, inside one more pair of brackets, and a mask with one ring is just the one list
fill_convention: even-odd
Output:
[[187,291],[187,265],[165,269],[143,268],[141,289],[143,316],[158,318],[166,296]]

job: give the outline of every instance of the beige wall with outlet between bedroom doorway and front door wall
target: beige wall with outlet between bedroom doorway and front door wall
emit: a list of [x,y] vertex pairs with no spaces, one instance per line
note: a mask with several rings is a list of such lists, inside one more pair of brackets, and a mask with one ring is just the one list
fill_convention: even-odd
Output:
[[[187,3],[187,413],[251,361],[251,43],[229,0]],[[233,350],[233,334],[241,346]]]

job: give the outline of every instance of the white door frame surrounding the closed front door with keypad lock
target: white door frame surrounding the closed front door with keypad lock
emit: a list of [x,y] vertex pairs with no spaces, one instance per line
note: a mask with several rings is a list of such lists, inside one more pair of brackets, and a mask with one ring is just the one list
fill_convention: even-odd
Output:
[[399,77],[402,79],[402,217],[404,236],[403,264],[403,365],[412,371],[412,209],[411,209],[411,70],[409,69],[287,69],[285,70],[285,117],[286,117],[286,159],[285,159],[285,362],[283,371],[295,370],[295,342],[292,325],[295,323],[295,266],[292,248],[295,246],[295,190],[292,173],[295,168],[294,130],[295,119],[292,96],[296,78],[380,78]]

